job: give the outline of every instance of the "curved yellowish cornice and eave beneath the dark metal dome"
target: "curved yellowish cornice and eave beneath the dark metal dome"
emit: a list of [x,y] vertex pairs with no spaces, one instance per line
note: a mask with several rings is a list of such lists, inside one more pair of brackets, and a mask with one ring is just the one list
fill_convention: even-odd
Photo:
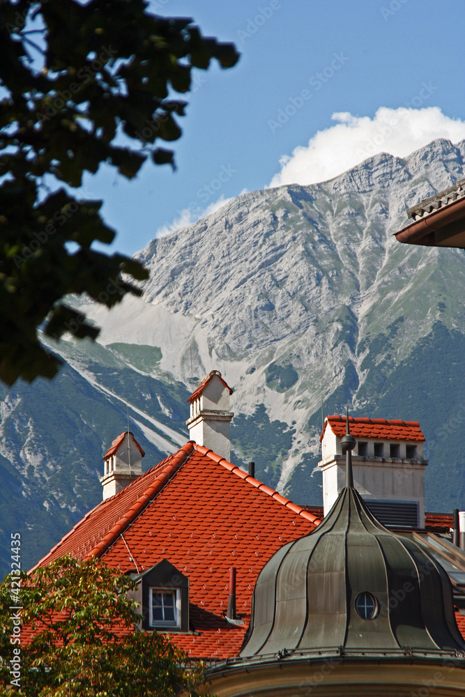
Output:
[[[447,671],[443,666],[447,666]],[[305,695],[316,689],[316,694],[323,694],[324,690],[325,694],[387,696],[398,694],[402,688],[405,689],[402,694],[416,694],[416,691],[421,694],[425,684],[438,684],[438,668],[441,668],[441,689],[450,689],[450,694],[463,690],[464,657],[456,652],[419,652],[409,648],[392,652],[376,649],[341,652],[329,648],[293,654],[283,650],[273,656],[218,662],[208,670],[209,682],[200,694],[212,691],[218,697],[232,694],[265,697]]]

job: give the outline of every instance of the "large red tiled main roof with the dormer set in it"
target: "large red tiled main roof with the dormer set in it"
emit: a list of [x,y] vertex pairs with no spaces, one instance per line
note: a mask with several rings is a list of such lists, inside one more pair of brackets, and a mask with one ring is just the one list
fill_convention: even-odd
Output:
[[[86,514],[47,554],[96,555],[123,572],[167,558],[190,579],[190,623],[175,634],[191,658],[224,659],[241,648],[259,571],[282,544],[319,518],[191,441]],[[229,567],[237,569],[234,627],[224,619]]]

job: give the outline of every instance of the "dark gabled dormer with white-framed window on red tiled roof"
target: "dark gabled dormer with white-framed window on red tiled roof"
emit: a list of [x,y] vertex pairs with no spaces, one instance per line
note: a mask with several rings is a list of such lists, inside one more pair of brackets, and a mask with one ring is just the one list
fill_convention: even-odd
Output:
[[189,631],[189,579],[167,559],[140,574],[142,629]]

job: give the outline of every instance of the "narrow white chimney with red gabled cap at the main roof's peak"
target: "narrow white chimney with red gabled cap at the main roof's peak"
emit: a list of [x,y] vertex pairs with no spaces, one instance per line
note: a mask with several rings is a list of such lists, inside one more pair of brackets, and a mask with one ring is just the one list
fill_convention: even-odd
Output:
[[231,458],[231,419],[234,416],[229,411],[229,395],[232,395],[232,390],[220,371],[212,370],[190,395],[190,418],[186,421],[191,441],[208,447],[228,462]]

